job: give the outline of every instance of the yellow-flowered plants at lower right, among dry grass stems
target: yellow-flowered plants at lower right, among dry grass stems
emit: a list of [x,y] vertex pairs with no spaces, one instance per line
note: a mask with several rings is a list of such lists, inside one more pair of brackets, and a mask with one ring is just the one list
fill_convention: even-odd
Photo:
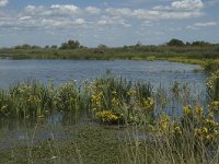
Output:
[[[152,129],[151,125],[149,129]],[[191,140],[208,145],[219,141],[219,122],[212,112],[204,114],[203,107],[188,105],[183,108],[183,115],[177,119],[171,120],[168,115],[161,115],[152,132],[159,138],[174,138],[177,143],[189,137]]]

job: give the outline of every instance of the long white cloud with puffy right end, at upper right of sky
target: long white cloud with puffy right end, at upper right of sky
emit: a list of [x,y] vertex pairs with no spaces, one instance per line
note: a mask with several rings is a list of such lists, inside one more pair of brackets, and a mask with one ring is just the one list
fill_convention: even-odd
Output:
[[173,1],[170,5],[157,5],[152,9],[108,8],[105,12],[110,15],[137,17],[143,20],[182,20],[204,15],[201,0]]

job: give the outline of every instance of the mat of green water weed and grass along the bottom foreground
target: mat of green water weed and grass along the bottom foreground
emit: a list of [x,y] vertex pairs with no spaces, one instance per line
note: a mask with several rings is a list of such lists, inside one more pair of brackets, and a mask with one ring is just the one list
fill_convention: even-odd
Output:
[[[76,128],[77,127],[77,128]],[[0,163],[79,163],[79,164],[217,164],[218,143],[206,147],[184,131],[178,142],[169,134],[147,140],[145,127],[108,127],[91,122],[64,127],[71,138],[47,138],[37,143],[37,131],[28,132],[23,145],[0,150]],[[50,129],[54,131],[53,129]]]

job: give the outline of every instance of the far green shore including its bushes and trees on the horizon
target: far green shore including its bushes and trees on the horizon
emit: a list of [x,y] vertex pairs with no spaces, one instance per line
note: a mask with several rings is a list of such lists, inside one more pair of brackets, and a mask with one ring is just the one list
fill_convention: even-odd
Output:
[[166,45],[124,46],[108,48],[99,45],[97,48],[87,48],[78,40],[68,40],[57,46],[22,45],[14,48],[1,48],[1,58],[12,59],[132,59],[132,60],[173,60],[192,63],[204,63],[205,60],[217,59],[219,57],[219,45],[205,42],[194,42],[184,44],[182,40],[172,39]]

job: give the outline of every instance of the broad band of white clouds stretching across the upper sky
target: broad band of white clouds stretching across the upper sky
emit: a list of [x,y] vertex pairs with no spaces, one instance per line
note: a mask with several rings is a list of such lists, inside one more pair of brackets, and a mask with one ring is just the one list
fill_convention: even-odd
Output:
[[[2,0],[0,0],[1,2]],[[158,20],[185,20],[204,15],[200,0],[182,0],[170,2],[169,5],[158,5],[151,9],[79,8],[74,4],[27,5],[14,15],[1,19],[1,27],[20,28],[70,28],[70,27],[130,27],[135,23],[142,26],[153,26]],[[101,16],[102,15],[102,16]],[[0,16],[1,17],[1,16]],[[87,22],[85,20],[89,20]],[[196,24],[194,26],[204,26]],[[206,26],[210,26],[207,24]]]

